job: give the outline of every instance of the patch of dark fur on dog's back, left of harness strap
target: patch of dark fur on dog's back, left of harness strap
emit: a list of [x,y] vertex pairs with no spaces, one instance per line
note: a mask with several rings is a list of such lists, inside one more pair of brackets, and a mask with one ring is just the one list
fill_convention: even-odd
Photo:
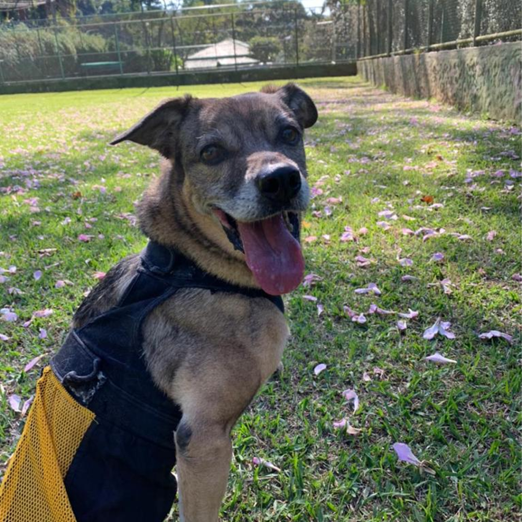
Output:
[[80,304],[74,314],[73,327],[81,328],[94,317],[116,306],[139,265],[139,254],[125,257],[114,265]]

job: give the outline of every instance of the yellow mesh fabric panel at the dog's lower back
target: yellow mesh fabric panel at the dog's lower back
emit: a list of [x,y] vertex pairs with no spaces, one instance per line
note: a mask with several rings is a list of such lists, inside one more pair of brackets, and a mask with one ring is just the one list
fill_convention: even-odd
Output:
[[46,367],[0,486],[0,522],[76,522],[63,478],[93,420]]

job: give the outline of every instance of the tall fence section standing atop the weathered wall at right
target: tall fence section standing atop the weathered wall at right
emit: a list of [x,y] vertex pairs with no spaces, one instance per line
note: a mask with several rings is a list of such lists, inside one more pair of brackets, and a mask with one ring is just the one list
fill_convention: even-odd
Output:
[[366,0],[358,58],[520,39],[520,0]]

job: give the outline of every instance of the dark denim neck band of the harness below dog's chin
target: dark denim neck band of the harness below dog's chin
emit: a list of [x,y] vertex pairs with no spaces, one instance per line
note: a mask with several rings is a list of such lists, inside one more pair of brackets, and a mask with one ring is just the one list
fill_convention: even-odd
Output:
[[263,297],[274,303],[284,314],[280,295],[270,295],[257,288],[240,287],[201,270],[191,259],[174,248],[149,241],[141,252],[141,264],[145,270],[162,279],[167,279],[174,287],[205,288],[212,292],[231,292],[248,297]]

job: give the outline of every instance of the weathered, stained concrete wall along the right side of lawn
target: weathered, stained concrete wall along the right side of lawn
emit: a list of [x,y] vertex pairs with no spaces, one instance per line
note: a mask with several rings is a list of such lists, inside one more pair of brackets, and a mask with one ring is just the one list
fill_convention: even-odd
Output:
[[358,74],[413,98],[436,98],[495,120],[520,123],[520,42],[359,60]]

